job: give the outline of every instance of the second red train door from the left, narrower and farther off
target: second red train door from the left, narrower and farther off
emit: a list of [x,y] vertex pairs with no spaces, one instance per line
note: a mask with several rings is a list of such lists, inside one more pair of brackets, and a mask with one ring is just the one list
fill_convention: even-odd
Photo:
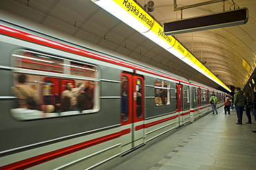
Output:
[[183,86],[176,84],[176,101],[177,101],[177,114],[178,114],[178,127],[184,125],[183,116]]

